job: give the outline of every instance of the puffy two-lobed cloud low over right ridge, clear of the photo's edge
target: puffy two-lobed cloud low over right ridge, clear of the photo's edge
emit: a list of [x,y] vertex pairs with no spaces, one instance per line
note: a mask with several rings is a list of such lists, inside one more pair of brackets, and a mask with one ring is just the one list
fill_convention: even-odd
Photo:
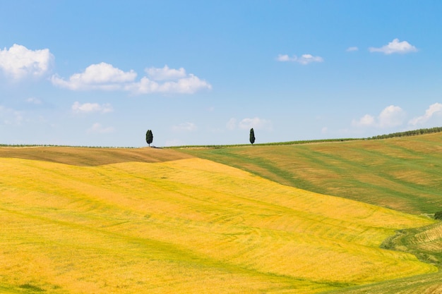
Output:
[[377,118],[366,114],[359,120],[352,121],[352,125],[356,127],[376,127],[376,128],[392,128],[402,125],[405,120],[405,111],[399,106],[387,106]]

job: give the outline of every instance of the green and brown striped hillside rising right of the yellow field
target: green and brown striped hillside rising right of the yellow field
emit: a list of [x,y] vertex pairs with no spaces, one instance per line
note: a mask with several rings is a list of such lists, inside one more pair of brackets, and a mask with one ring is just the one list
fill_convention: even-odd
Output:
[[413,214],[442,210],[442,133],[306,145],[181,149],[277,183]]

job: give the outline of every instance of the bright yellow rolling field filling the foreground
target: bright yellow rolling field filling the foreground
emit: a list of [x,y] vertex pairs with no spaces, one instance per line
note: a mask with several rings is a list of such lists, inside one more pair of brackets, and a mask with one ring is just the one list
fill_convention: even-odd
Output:
[[429,219],[204,159],[118,162],[0,158],[0,292],[318,293],[437,271],[379,248]]

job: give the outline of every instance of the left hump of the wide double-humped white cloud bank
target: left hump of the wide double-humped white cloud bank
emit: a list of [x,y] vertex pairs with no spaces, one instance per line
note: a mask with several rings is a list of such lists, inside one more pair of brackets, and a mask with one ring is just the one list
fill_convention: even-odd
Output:
[[88,66],[83,73],[75,73],[68,80],[53,75],[54,85],[69,90],[121,90],[123,85],[133,82],[134,71],[124,72],[109,63],[98,63]]

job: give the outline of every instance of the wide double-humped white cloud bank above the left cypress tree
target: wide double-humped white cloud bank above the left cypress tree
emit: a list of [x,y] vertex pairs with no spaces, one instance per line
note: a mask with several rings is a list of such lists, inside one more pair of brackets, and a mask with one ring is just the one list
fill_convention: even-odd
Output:
[[133,94],[181,93],[193,94],[198,90],[212,89],[212,85],[196,75],[187,74],[184,68],[146,69],[148,77],[135,81],[134,71],[121,71],[108,63],[92,64],[83,73],[71,75],[68,80],[52,76],[52,83],[69,90],[121,90]]

